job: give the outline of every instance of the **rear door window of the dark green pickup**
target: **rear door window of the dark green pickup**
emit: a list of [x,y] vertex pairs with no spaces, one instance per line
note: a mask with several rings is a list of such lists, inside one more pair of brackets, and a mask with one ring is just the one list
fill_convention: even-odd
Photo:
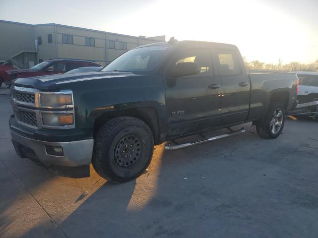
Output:
[[217,60],[220,76],[230,76],[241,73],[239,61],[234,51],[218,51]]

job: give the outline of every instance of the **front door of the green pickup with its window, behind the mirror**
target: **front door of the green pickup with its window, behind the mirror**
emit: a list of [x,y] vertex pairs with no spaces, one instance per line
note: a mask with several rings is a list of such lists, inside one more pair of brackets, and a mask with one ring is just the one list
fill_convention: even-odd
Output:
[[166,86],[168,136],[184,135],[220,125],[221,80],[214,77],[211,52],[195,48],[177,54],[172,63],[196,62],[200,73],[180,77]]

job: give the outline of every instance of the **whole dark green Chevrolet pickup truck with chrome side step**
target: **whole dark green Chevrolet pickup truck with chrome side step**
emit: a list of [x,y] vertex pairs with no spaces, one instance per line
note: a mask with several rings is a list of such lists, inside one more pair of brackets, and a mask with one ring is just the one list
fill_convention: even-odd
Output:
[[113,182],[140,176],[154,145],[229,128],[201,141],[244,132],[276,138],[297,104],[295,73],[247,74],[234,45],[174,41],[138,47],[99,72],[17,79],[12,90],[12,142],[21,157],[72,170],[92,163]]

